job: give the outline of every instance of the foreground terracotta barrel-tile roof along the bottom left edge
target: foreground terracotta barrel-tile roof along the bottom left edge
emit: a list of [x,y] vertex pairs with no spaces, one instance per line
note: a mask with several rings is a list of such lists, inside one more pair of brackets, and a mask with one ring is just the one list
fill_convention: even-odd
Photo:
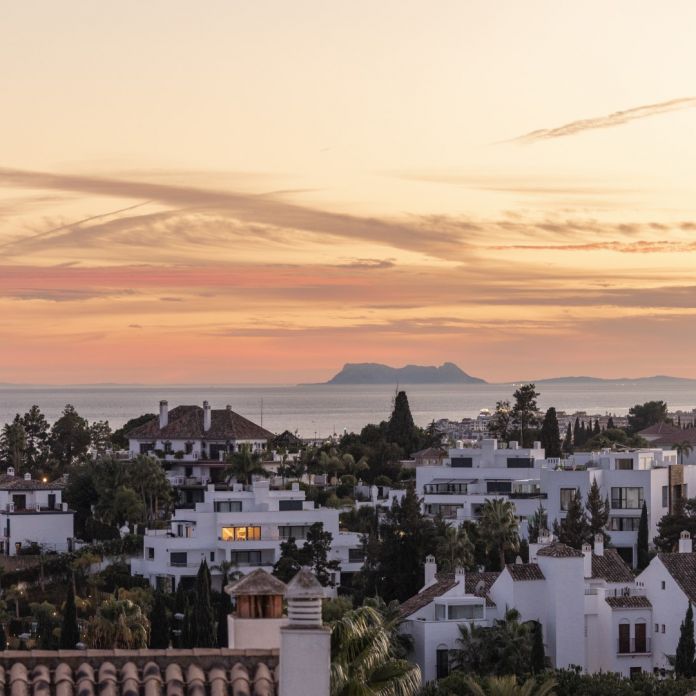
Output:
[[0,655],[0,692],[5,696],[275,696],[278,686],[277,651],[270,650],[31,650]]

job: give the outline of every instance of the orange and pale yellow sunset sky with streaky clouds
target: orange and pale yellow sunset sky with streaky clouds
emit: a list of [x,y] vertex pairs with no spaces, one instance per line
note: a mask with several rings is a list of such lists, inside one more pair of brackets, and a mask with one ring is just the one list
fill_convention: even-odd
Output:
[[696,3],[23,0],[0,382],[696,378]]

